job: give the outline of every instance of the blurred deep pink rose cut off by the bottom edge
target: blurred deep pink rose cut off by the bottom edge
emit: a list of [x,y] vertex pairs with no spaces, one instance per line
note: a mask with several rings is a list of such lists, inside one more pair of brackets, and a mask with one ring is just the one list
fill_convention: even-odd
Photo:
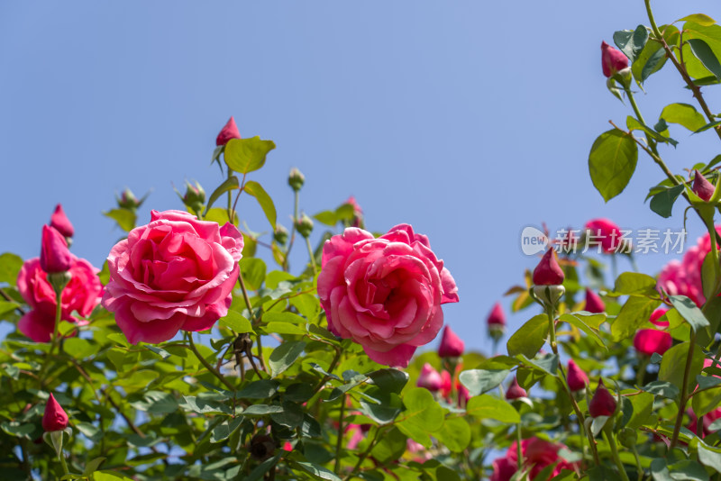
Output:
[[[493,462],[493,474],[490,481],[509,481],[518,470],[518,453],[516,441],[511,444],[504,458],[497,458]],[[565,446],[558,442],[541,440],[539,438],[530,438],[521,441],[521,453],[523,454],[523,467],[531,467],[529,479],[534,479],[538,473],[543,471],[544,467],[556,466],[548,479],[561,474],[562,469],[573,469],[573,465],[565,459],[559,457],[558,451]],[[542,481],[542,480],[537,480]]]

